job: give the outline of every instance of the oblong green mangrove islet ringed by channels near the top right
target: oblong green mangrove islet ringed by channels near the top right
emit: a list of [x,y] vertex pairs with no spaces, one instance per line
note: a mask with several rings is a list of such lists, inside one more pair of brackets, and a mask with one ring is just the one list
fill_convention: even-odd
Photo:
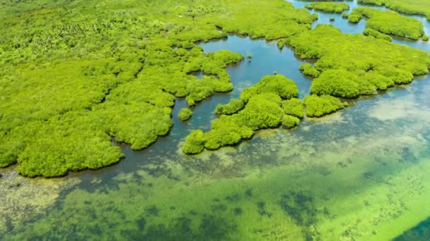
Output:
[[349,15],[351,23],[361,18],[368,18],[366,28],[382,32],[386,35],[419,39],[424,35],[424,26],[419,20],[401,16],[394,11],[379,11],[373,8],[354,8]]

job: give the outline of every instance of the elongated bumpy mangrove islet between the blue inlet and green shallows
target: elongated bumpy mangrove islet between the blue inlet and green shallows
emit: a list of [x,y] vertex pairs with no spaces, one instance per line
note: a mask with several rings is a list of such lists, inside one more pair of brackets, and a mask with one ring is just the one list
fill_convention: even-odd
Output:
[[[283,121],[285,114],[303,116],[301,101],[291,100],[297,95],[298,88],[293,80],[282,75],[265,76],[260,82],[244,89],[240,94],[240,100],[245,104],[243,109],[236,108],[236,103],[240,103],[238,99],[232,99],[230,103],[223,105],[234,106],[228,110],[237,110],[236,113],[228,111],[230,116],[221,115],[216,118],[212,121],[209,132],[193,130],[185,139],[182,151],[185,154],[197,154],[204,148],[219,149],[237,144],[240,140],[252,137],[255,130],[276,128]],[[298,110],[300,108],[301,111]],[[217,107],[217,109],[225,110],[224,107]],[[287,128],[297,125],[298,118],[292,117],[286,119]]]

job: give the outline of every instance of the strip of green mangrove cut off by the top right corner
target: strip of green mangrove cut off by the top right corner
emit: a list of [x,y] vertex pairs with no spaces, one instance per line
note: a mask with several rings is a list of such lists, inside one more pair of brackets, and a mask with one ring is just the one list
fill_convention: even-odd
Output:
[[359,4],[385,5],[399,13],[418,14],[430,20],[430,1],[427,0],[358,0]]

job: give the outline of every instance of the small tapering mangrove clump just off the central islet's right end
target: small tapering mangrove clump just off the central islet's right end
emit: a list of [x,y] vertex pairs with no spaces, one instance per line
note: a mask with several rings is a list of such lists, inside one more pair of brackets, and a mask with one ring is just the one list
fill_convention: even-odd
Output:
[[342,101],[330,95],[307,96],[304,104],[306,106],[306,116],[309,117],[325,116],[347,106],[347,103],[342,103]]

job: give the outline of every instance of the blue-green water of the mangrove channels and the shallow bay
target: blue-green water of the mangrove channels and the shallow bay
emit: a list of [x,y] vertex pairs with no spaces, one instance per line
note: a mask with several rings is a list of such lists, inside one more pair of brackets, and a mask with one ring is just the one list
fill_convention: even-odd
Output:
[[[336,16],[344,32],[364,29],[364,21],[319,14],[318,23]],[[0,181],[0,240],[430,238],[428,76],[295,130],[263,130],[237,147],[185,156],[190,130],[207,130],[216,104],[262,76],[286,75],[301,97],[311,81],[298,71],[303,61],[276,43],[231,36],[202,46],[252,54],[228,68],[232,93],[203,101],[189,123],[177,120],[185,106],[178,100],[170,135],[141,152],[121,145],[126,158],[115,166],[54,180],[27,180],[10,168]],[[16,180],[21,187],[9,188]]]

